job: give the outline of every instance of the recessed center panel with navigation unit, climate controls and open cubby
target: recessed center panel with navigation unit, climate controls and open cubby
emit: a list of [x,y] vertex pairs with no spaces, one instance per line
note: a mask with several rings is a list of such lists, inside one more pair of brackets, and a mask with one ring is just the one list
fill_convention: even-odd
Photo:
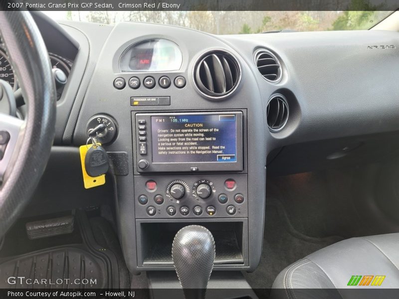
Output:
[[173,237],[192,223],[212,232],[216,267],[248,261],[245,119],[245,110],[132,113],[139,265],[173,266]]

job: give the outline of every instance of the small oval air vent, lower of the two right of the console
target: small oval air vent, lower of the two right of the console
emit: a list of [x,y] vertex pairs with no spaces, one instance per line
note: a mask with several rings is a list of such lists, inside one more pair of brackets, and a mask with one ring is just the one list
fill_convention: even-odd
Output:
[[278,132],[284,128],[288,121],[288,104],[282,95],[270,98],[266,108],[267,126],[271,132]]

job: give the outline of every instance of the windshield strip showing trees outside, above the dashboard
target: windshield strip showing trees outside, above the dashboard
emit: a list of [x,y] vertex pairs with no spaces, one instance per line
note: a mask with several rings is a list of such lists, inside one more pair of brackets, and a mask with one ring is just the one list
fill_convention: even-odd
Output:
[[44,11],[56,20],[116,24],[140,21],[189,27],[214,34],[294,30],[370,29],[391,11]]

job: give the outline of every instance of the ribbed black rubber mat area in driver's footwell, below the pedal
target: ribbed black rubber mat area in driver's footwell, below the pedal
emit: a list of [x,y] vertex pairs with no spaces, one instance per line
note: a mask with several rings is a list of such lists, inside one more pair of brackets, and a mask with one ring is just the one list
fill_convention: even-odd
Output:
[[0,288],[106,288],[107,263],[73,247],[43,250],[0,265]]

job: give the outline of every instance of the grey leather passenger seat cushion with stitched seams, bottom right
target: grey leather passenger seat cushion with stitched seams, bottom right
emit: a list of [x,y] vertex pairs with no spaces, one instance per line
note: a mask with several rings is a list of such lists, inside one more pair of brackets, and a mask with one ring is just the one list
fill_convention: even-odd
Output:
[[[376,286],[379,284],[377,279],[382,281],[379,286]],[[273,297],[291,299],[304,298],[297,296],[295,289],[371,287],[399,288],[399,233],[352,238],[316,251],[286,267],[272,287],[284,289],[284,292],[272,290],[272,294]]]

